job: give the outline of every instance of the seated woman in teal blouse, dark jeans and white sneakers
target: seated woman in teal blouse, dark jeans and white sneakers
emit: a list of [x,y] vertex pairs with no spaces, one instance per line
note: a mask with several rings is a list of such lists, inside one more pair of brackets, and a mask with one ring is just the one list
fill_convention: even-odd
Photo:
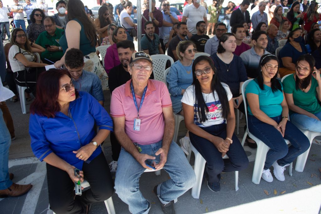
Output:
[[[290,121],[289,109],[284,98],[281,82],[276,79],[279,60],[274,55],[263,55],[260,60],[258,77],[246,87],[248,101],[248,131],[263,141],[270,150],[266,154],[262,178],[272,182],[273,174],[284,181],[284,170],[300,154],[305,152],[310,142]],[[291,142],[288,148],[284,139]]]

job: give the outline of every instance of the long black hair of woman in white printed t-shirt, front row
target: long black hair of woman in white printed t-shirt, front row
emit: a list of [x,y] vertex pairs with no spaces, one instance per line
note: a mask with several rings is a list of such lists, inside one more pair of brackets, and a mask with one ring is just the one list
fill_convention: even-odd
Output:
[[196,79],[196,75],[195,75],[195,66],[201,61],[208,62],[214,71],[213,79],[211,82],[211,90],[212,90],[214,99],[215,99],[214,91],[216,91],[222,105],[222,117],[227,118],[227,116],[230,114],[229,100],[227,98],[226,90],[224,89],[221,82],[219,81],[219,78],[217,77],[216,68],[214,66],[213,60],[209,56],[199,56],[194,60],[192,65],[192,71],[193,71],[192,85],[195,86],[195,110],[198,111],[199,122],[204,123],[207,120],[205,111],[208,112],[208,107],[206,106],[206,103],[202,94],[201,85],[199,81]]

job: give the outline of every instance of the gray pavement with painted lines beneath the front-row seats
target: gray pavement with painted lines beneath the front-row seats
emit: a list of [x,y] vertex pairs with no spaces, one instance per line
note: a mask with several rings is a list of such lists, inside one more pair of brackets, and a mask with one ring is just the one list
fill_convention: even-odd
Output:
[[[105,108],[109,112],[109,91],[104,93],[106,101]],[[47,214],[52,213],[49,209],[47,177],[45,163],[34,157],[30,148],[30,136],[28,134],[29,106],[27,102],[27,114],[23,115],[20,102],[7,102],[13,117],[15,134],[17,139],[12,141],[9,155],[9,171],[14,173],[13,181],[18,184],[33,184],[28,194],[20,197],[8,197],[0,199],[0,214]],[[240,120],[241,140],[244,134],[244,117]],[[184,122],[181,123],[179,137],[186,133]],[[104,145],[105,156],[111,161],[111,146],[109,138]],[[250,164],[246,170],[239,172],[239,190],[234,189],[234,172],[223,173],[221,180],[221,191],[213,193],[203,184],[200,198],[191,197],[191,190],[178,198],[175,204],[176,213],[308,213],[317,214],[321,205],[321,179],[319,168],[321,167],[321,138],[312,144],[304,172],[296,172],[293,163],[293,176],[285,171],[285,181],[280,182],[274,178],[272,183],[261,180],[260,184],[251,182],[256,150],[244,146]],[[192,155],[191,165],[194,165]],[[178,163],[179,164],[179,163]],[[314,175],[315,174],[315,175]],[[140,190],[144,197],[152,204],[150,213],[162,213],[160,202],[152,192],[153,187],[168,179],[168,174],[161,170],[161,175],[154,173],[143,173],[140,179]],[[308,183],[309,182],[309,183]],[[268,192],[267,195],[264,190]],[[274,194],[274,190],[276,194]],[[284,192],[285,191],[285,192]],[[282,193],[284,192],[284,193]],[[117,194],[112,196],[116,213],[129,213],[128,206],[122,202]],[[107,213],[103,202],[96,203],[91,207],[91,214]]]

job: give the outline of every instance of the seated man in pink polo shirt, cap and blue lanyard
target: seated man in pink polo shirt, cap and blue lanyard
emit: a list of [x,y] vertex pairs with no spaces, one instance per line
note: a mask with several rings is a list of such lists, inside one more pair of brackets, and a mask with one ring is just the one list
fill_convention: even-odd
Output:
[[175,213],[174,199],[196,182],[184,152],[172,141],[174,117],[165,83],[150,80],[152,58],[143,51],[132,55],[128,71],[132,79],[116,88],[110,115],[122,146],[118,158],[115,190],[131,213],[148,213],[151,204],[139,190],[145,169],[164,168],[171,179],[154,187],[164,213]]

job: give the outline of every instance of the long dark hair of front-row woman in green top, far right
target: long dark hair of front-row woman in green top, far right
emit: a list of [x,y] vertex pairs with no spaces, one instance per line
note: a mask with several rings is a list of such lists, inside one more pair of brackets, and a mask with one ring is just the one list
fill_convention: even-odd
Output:
[[308,88],[310,81],[312,79],[312,72],[314,70],[314,65],[316,63],[316,61],[312,55],[309,55],[309,54],[301,55],[301,56],[299,56],[297,63],[295,64],[295,70],[297,70],[297,66],[300,61],[307,61],[308,62],[309,66],[310,66],[310,73],[306,78],[304,78],[304,80],[300,80],[299,78],[297,78],[297,76],[295,74],[295,89],[296,90],[299,90],[299,89],[304,90],[304,89]]

